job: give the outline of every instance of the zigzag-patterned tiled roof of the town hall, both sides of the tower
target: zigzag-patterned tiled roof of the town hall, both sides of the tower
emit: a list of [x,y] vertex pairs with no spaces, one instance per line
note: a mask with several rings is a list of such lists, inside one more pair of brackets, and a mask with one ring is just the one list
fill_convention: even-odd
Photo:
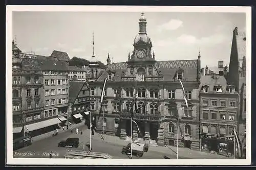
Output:
[[[163,81],[173,81],[176,71],[180,68],[184,70],[186,81],[197,81],[197,60],[157,61],[155,68],[159,74],[163,76]],[[104,78],[106,78],[108,70],[116,72],[113,81],[120,81],[122,71],[126,71],[126,69],[126,62],[109,64],[108,68],[99,77],[98,81],[103,81]]]

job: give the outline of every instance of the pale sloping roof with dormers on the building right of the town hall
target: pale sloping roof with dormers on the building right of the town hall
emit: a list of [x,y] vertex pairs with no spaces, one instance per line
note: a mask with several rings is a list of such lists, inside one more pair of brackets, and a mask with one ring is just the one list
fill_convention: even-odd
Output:
[[202,88],[202,86],[207,85],[209,86],[209,91],[214,90],[214,86],[222,86],[222,91],[226,91],[227,87],[227,81],[224,76],[219,75],[206,75],[201,76],[201,83],[199,86],[199,89]]

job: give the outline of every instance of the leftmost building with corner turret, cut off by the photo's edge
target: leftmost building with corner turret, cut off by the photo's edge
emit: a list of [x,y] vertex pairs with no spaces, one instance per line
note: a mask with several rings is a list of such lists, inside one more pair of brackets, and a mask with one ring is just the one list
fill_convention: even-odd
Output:
[[[43,75],[37,59],[21,58],[12,42],[13,138],[29,133],[31,125],[44,118]],[[30,133],[33,136],[33,133]]]

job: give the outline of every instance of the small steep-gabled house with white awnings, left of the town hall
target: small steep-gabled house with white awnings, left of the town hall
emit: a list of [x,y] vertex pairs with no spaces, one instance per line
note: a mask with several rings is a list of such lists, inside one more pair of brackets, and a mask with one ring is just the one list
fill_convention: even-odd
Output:
[[81,119],[86,120],[89,126],[89,111],[90,111],[90,89],[89,84],[83,81],[69,82],[69,122],[80,123]]

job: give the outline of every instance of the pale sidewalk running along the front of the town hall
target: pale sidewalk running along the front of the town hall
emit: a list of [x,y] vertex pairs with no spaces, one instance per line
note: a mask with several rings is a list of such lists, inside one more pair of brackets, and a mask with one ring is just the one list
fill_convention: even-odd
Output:
[[[85,135],[87,138],[90,138],[89,129],[83,127],[82,131],[83,131],[83,135]],[[99,134],[99,133],[94,133],[94,135],[92,135],[92,140],[100,140],[102,142],[111,143],[121,147],[126,146],[128,143],[130,143],[129,141],[122,140],[117,136],[110,136],[110,135]],[[174,146],[167,146],[167,147],[150,146],[150,148],[148,148],[148,151],[161,152],[166,154],[166,156],[177,155],[176,154],[177,147],[174,147]],[[232,159],[232,158],[225,157],[223,155],[190,150],[188,148],[179,148],[178,154],[180,157],[187,157],[187,158],[193,158],[193,159]]]

